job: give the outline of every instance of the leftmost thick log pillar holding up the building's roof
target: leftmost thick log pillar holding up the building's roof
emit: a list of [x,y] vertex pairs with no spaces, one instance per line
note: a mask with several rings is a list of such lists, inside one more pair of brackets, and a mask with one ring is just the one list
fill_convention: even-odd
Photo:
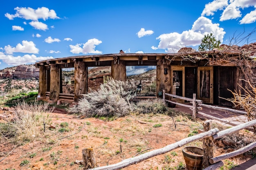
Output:
[[46,83],[46,68],[44,65],[39,66],[39,89],[38,96],[45,97],[45,92],[47,91]]

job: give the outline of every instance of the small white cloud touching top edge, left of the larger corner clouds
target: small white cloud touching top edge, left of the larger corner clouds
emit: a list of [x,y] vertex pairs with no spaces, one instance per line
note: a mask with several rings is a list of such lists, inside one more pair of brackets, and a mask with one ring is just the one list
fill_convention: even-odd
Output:
[[202,11],[201,16],[213,16],[217,10],[223,10],[224,7],[228,6],[228,0],[213,0],[205,5],[204,10]]

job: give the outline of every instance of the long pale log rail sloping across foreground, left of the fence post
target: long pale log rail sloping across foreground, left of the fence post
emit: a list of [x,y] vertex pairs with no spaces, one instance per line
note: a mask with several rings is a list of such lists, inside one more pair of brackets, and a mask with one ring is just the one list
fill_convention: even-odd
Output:
[[152,150],[150,152],[141,154],[137,157],[124,159],[123,161],[121,161],[119,163],[115,163],[115,164],[108,165],[108,166],[96,167],[96,168],[88,169],[88,170],[120,170],[122,168],[128,167],[128,166],[133,165],[135,163],[139,163],[141,161],[144,161],[146,159],[155,157],[157,155],[165,154],[167,152],[170,152],[171,150],[174,150],[176,148],[180,148],[180,147],[182,147],[182,146],[184,146],[188,143],[191,143],[193,141],[197,141],[198,139],[203,139],[203,138],[212,136],[213,134],[216,134],[217,132],[218,132],[218,129],[214,128],[212,130],[209,130],[208,132],[203,132],[203,133],[197,134],[195,136],[191,136],[191,137],[182,139],[181,141],[178,141],[176,143],[172,143],[171,145],[167,145],[163,148]]

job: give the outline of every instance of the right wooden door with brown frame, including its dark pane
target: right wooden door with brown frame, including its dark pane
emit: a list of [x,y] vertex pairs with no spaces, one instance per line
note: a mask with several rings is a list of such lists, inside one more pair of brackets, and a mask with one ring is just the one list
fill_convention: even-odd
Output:
[[198,67],[198,95],[204,103],[213,104],[213,66]]

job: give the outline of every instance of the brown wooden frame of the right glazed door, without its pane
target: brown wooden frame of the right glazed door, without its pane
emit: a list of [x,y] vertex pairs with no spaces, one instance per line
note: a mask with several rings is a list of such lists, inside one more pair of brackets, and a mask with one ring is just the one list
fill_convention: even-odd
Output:
[[[210,97],[209,98],[203,98],[200,97],[200,71],[210,71]],[[198,67],[198,94],[197,98],[199,100],[202,100],[204,103],[210,103],[213,104],[213,66],[204,66],[204,67]]]

